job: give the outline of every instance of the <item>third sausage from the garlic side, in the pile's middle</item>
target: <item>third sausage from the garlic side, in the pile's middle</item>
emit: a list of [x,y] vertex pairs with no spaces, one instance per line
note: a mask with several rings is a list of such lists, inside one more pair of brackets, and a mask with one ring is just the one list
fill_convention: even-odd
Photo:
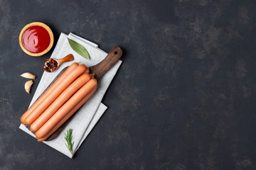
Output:
[[91,79],[90,74],[82,74],[78,79],[73,81],[65,91],[63,91],[58,98],[50,104],[50,106],[44,111],[32,124],[31,131],[36,132],[46,121],[68,101],[68,99],[75,94],[80,87],[85,85]]

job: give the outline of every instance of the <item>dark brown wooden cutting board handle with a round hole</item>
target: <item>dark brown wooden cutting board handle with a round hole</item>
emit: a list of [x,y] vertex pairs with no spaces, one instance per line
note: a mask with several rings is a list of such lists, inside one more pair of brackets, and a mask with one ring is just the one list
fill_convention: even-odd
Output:
[[90,67],[90,73],[95,74],[95,79],[100,79],[105,72],[116,64],[116,62],[122,56],[122,50],[120,47],[113,47],[107,57],[102,62]]

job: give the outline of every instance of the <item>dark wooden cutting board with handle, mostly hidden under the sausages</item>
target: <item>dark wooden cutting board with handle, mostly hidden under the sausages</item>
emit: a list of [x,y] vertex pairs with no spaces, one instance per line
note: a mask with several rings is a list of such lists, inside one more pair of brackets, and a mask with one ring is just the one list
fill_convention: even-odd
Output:
[[[95,74],[95,79],[99,80],[105,74],[105,72],[107,72],[114,66],[114,64],[120,59],[121,56],[121,48],[113,47],[110,53],[108,53],[107,57],[105,57],[105,59],[102,60],[102,62],[96,64],[95,66],[89,67],[90,73]],[[53,79],[53,81],[49,84],[49,86],[43,91],[43,93],[40,96],[42,96],[49,89],[49,87],[58,79],[58,77],[61,76],[61,74],[63,74],[63,72],[65,72],[66,69],[68,69],[68,67],[65,67],[60,71],[60,73],[55,77],[55,79]],[[40,98],[40,96],[38,98]],[[60,132],[65,128],[65,126],[68,125],[72,118],[73,116],[71,116],[67,121],[65,121],[65,123],[63,123],[63,125],[61,125],[60,128],[58,128],[58,130],[53,132],[53,134],[50,135],[50,137],[48,137],[46,141],[54,140],[55,137],[57,137],[60,134]],[[25,126],[26,128],[28,128],[28,130],[30,130],[30,125]],[[33,134],[35,133],[36,132],[33,132]]]

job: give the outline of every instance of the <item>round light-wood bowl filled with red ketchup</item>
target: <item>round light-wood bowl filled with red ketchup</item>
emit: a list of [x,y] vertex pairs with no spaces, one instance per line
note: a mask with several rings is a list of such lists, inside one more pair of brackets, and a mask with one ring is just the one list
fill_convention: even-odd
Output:
[[53,47],[53,32],[44,23],[28,23],[21,30],[18,41],[26,54],[38,57]]

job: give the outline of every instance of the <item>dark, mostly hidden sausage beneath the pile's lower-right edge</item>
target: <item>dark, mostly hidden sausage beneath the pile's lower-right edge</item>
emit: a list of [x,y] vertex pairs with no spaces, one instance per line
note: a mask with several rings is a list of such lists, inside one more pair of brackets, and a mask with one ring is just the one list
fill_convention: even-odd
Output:
[[90,98],[90,96],[92,96],[92,94],[95,93],[96,89],[97,89],[97,86],[95,86],[95,88],[92,89],[92,91],[90,91],[90,94],[87,94],[87,96],[85,96],[85,98],[83,98],[82,101],[80,101],[74,108],[72,108],[71,111],[67,115],[65,115],[65,117],[62,120],[60,120],[60,122],[58,122],[58,124],[55,125],[53,127],[53,129],[51,129],[50,132],[48,132],[48,134],[46,136],[39,138],[38,142],[43,142],[50,135],[52,135],[53,132],[58,130],[58,128],[60,128],[60,126],[63,125],[63,123],[65,123],[65,121],[67,121],[71,117],[71,115],[73,115],[73,113],[75,113],[75,111],[78,111],[78,108],[80,108]]

